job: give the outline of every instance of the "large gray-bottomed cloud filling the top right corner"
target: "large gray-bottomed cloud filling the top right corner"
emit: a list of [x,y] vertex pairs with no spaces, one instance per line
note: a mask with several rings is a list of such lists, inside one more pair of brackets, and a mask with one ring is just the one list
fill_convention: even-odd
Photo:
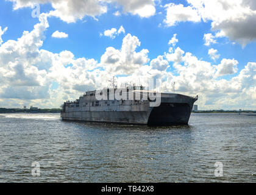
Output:
[[188,2],[195,7],[202,18],[212,21],[213,30],[221,30],[231,40],[240,44],[249,43],[256,38],[255,1],[194,1]]

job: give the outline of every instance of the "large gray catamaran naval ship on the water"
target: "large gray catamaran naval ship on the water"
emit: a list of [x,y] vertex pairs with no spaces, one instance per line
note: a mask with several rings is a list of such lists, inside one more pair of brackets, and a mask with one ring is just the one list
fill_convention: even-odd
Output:
[[[118,91],[117,91],[118,90]],[[102,94],[104,90],[100,91]],[[111,93],[121,92],[122,97],[113,98]],[[133,86],[105,89],[105,99],[97,96],[98,91],[87,91],[76,101],[66,101],[60,116],[63,120],[113,122],[121,124],[143,124],[149,126],[188,125],[188,120],[198,97],[177,93],[160,93],[160,104],[151,106],[154,101],[150,94],[154,91]],[[148,98],[144,98],[144,94]],[[135,97],[136,96],[136,97]],[[129,99],[129,97],[132,97]],[[134,98],[135,97],[135,98]]]

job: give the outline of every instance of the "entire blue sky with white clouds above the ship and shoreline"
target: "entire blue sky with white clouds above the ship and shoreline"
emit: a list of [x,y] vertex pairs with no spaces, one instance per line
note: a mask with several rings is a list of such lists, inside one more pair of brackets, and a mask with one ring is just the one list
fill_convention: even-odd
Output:
[[[62,1],[63,4],[65,2]],[[252,21],[256,19],[254,1],[214,0],[210,3],[205,0],[199,5],[194,0],[113,0],[108,3],[95,1],[93,5],[87,5],[85,2],[83,5],[88,6],[85,10],[80,10],[77,1],[69,2],[71,4],[66,10],[56,7],[51,0],[0,2],[0,67],[4,68],[0,80],[3,83],[0,90],[0,107],[22,107],[24,104],[57,107],[66,99],[77,98],[82,93],[80,87],[84,86],[84,91],[104,87],[99,80],[107,80],[112,75],[123,75],[127,81],[138,77],[148,79],[150,76],[157,76],[162,82],[168,80],[169,83],[165,83],[163,90],[170,92],[170,82],[176,81],[178,92],[199,94],[199,97],[202,97],[198,103],[201,108],[256,109],[256,29],[252,27]],[[49,27],[42,24],[39,18],[31,16],[37,4],[40,5],[40,13],[46,13]],[[101,7],[97,7],[98,4]],[[106,10],[102,11],[102,7]],[[114,15],[117,11],[118,16]],[[63,16],[65,14],[66,18]],[[18,39],[23,37],[24,30],[29,33],[27,39],[30,35],[36,36],[32,35],[32,32],[37,30],[37,24],[43,25],[43,30],[40,31],[43,35],[38,36],[37,40],[34,39],[35,42],[29,46],[23,44],[18,47],[22,42]],[[104,35],[106,30],[115,28],[117,31],[121,26],[125,32],[116,34],[115,38]],[[7,30],[4,30],[5,27]],[[52,37],[56,30],[68,37]],[[217,33],[222,35],[218,37]],[[177,34],[177,42],[168,44],[174,34]],[[207,34],[211,34],[213,40],[208,40],[210,44],[205,45],[207,40],[204,37]],[[136,50],[127,51],[126,48],[120,52],[122,43],[124,48],[126,47],[124,40],[127,41],[127,48],[134,46]],[[42,43],[38,46],[40,41]],[[27,53],[14,49],[17,52],[13,54],[15,60],[10,55],[5,56],[7,54],[4,48],[12,44],[15,44],[12,48],[18,47],[20,51]],[[30,54],[30,47],[35,49],[32,52],[34,59],[32,55],[27,55]],[[148,52],[143,52],[143,49]],[[209,49],[215,50],[215,59],[208,54]],[[108,50],[111,52],[107,52]],[[49,53],[43,55],[44,51]],[[61,55],[64,54],[63,51],[65,55]],[[178,51],[183,53],[180,60]],[[196,61],[188,55],[189,53],[196,57]],[[120,57],[118,62],[112,63],[112,54]],[[54,55],[58,56],[58,59],[53,57]],[[10,60],[7,60],[9,57]],[[79,63],[79,59],[84,61]],[[140,63],[137,63],[138,60]],[[247,66],[250,62],[252,64]],[[22,71],[15,72],[20,64]],[[60,75],[57,73],[58,68]],[[29,71],[32,69],[38,74],[35,77],[30,75]],[[85,80],[77,81],[74,74],[77,74],[78,70],[83,73],[79,73],[77,78],[82,77]],[[16,77],[10,76],[8,72]],[[31,79],[30,83],[35,85],[28,84],[29,82],[21,83],[17,76],[21,77],[20,80]],[[68,83],[71,87],[68,87]],[[27,94],[34,95],[19,96],[19,90],[30,91]]]

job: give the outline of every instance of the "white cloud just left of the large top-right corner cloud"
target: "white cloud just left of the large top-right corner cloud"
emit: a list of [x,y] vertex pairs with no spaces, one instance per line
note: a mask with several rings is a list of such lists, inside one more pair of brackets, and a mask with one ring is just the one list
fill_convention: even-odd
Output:
[[197,13],[196,9],[192,7],[184,7],[182,4],[166,4],[166,19],[163,21],[166,26],[175,26],[182,21],[201,21],[201,16]]

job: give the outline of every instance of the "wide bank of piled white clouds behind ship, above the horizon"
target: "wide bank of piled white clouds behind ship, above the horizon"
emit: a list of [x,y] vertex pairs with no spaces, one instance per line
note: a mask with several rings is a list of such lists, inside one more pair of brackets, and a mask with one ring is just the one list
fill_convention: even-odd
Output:
[[[118,82],[160,78],[165,92],[172,91],[171,83],[175,81],[177,93],[199,95],[197,104],[201,109],[256,108],[255,62],[247,63],[237,76],[227,80],[219,76],[237,73],[235,59],[222,59],[214,66],[176,48],[149,60],[148,49],[137,51],[138,37],[127,34],[121,48],[106,48],[98,63],[84,57],[76,59],[71,51],[40,49],[48,26],[42,14],[31,32],[24,31],[18,40],[0,45],[0,101],[4,107],[23,103],[59,107],[86,90],[105,87],[109,77],[122,74]],[[172,72],[166,71],[169,66]],[[52,90],[52,82],[59,83],[59,88]]]

